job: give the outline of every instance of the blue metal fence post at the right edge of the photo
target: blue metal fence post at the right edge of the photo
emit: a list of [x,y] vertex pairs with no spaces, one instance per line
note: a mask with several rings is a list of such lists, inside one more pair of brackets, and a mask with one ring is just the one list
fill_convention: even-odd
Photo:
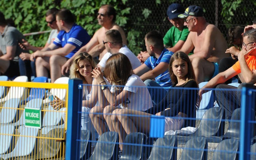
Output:
[[251,117],[251,107],[252,107],[252,91],[251,85],[244,84],[242,87],[241,94],[241,125],[240,125],[240,160],[249,160],[250,155],[250,138],[251,138],[251,128],[249,120]]

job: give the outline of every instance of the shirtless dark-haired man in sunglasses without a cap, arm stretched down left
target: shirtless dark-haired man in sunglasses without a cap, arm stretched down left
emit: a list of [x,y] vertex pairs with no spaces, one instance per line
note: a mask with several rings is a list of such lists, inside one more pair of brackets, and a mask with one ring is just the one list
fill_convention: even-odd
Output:
[[71,65],[72,60],[75,56],[77,56],[80,52],[88,52],[94,58],[99,55],[99,60],[104,56],[107,52],[105,50],[105,46],[102,43],[105,37],[105,32],[108,30],[118,30],[121,33],[123,45],[127,45],[126,36],[121,27],[119,27],[116,21],[116,10],[114,7],[110,5],[103,5],[100,7],[98,11],[98,24],[102,27],[95,32],[92,39],[83,46],[80,50],[78,50],[61,68],[61,73],[64,75],[68,72],[69,67]]

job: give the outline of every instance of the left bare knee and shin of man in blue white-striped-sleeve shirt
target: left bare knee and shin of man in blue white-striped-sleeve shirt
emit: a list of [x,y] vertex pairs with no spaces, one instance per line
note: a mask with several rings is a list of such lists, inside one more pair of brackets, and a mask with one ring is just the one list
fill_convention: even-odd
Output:
[[37,57],[36,58],[35,70],[36,70],[37,77],[41,77],[41,76],[48,77],[48,70],[50,70],[49,59],[50,59],[50,57]]

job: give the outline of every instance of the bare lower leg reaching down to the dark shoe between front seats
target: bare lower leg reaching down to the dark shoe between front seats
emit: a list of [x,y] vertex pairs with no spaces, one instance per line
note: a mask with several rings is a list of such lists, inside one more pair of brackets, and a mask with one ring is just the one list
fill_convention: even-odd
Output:
[[112,120],[112,124],[113,124],[115,132],[117,132],[118,135],[119,135],[120,150],[123,150],[123,144],[122,143],[123,143],[127,134],[126,134],[125,130],[123,129],[123,126],[122,126],[121,122],[117,118],[117,114],[118,114],[119,110],[122,110],[122,109],[116,109],[112,112],[111,120]]

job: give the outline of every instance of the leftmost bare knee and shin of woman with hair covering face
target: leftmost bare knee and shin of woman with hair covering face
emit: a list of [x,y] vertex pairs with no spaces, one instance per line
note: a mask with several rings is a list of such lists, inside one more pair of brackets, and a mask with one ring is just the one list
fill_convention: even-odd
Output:
[[104,132],[108,131],[107,126],[105,125],[105,119],[102,114],[103,113],[102,107],[95,106],[90,110],[90,118],[92,120],[94,128],[97,130],[99,135],[102,135]]

